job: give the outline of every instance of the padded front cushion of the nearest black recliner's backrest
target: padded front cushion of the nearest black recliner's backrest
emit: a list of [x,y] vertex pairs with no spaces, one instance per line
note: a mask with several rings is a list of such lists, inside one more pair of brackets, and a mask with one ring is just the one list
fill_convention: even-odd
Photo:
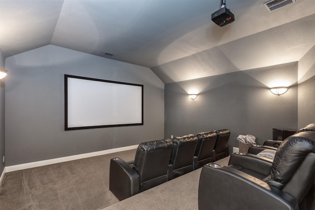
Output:
[[315,132],[305,131],[287,137],[275,154],[272,180],[268,183],[283,189],[309,153],[315,153]]

